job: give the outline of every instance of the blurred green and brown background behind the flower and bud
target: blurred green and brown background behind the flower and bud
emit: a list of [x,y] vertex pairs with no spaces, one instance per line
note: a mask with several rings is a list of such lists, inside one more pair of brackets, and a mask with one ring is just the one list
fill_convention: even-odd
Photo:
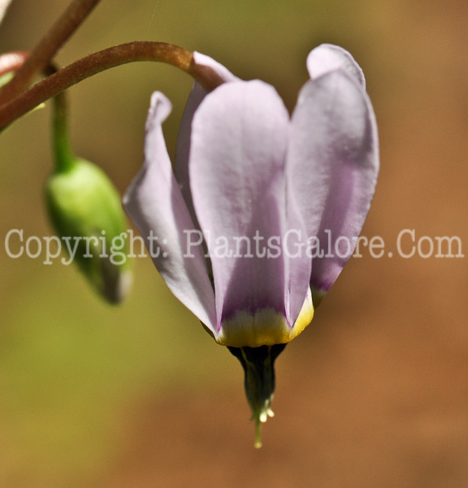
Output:
[[[31,49],[67,4],[13,0],[0,51]],[[51,233],[49,108],[18,121],[0,139],[1,487],[468,486],[467,257],[396,255],[402,229],[416,241],[459,236],[468,252],[467,19],[465,0],[102,1],[61,65],[164,40],[270,82],[292,110],[313,47],[352,52],[381,144],[363,234],[394,255],[351,259],[280,356],[276,416],[254,450],[240,364],[149,259],[111,307],[72,266],[6,255],[10,229]],[[76,153],[123,192],[141,165],[150,93],[173,102],[173,155],[191,85],[175,68],[134,63],[75,86]]]

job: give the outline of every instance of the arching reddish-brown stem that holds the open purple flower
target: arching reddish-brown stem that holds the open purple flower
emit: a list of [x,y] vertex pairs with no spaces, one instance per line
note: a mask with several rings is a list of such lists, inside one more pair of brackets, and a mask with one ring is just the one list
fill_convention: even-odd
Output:
[[223,79],[211,68],[197,65],[193,54],[182,47],[167,43],[135,41],[109,47],[90,54],[31,86],[24,93],[0,108],[0,130],[26,114],[45,100],[56,96],[70,86],[101,71],[134,61],[159,61],[180,68],[192,75],[203,88],[211,91],[223,83]]

